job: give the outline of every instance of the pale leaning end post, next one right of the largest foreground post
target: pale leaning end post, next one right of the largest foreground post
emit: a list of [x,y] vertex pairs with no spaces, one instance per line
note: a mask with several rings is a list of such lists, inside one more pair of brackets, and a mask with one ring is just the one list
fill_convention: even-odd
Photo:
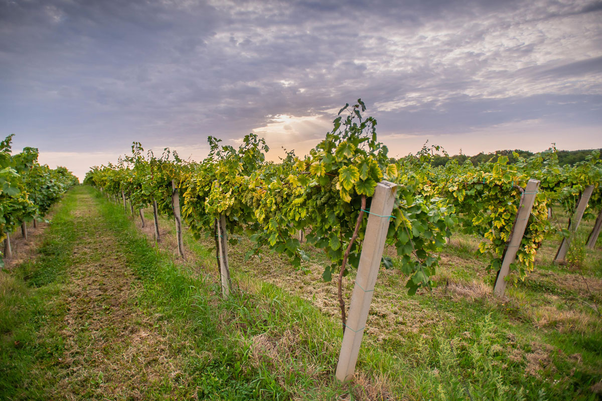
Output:
[[518,206],[517,217],[514,220],[512,231],[510,231],[510,242],[506,246],[504,252],[504,259],[501,261],[500,271],[497,272],[497,278],[495,279],[494,294],[498,298],[504,296],[506,292],[506,276],[510,272],[510,265],[514,262],[517,257],[518,248],[523,240],[525,228],[529,222],[529,216],[531,215],[531,209],[533,203],[535,203],[535,195],[539,189],[538,180],[529,180],[525,191],[521,195],[521,203]]

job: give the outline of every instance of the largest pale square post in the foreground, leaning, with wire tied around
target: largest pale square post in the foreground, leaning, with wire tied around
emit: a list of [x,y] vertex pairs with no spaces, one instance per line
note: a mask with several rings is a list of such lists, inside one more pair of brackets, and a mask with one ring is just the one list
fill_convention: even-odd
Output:
[[370,215],[364,235],[362,253],[359,257],[358,274],[353,286],[353,295],[347,318],[347,328],[341,343],[341,353],[337,364],[336,377],[341,382],[353,378],[358,361],[359,346],[362,343],[370,302],[374,294],[374,284],[380,268],[380,260],[385,248],[386,233],[389,229],[389,215],[395,203],[397,185],[380,182],[376,186],[370,204]]

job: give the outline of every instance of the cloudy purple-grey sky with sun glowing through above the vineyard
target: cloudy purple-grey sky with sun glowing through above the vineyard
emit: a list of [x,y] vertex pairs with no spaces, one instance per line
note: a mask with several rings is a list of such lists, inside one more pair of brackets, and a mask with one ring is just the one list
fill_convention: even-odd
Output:
[[0,135],[80,179],[132,141],[303,155],[361,98],[389,155],[602,147],[602,1],[0,0]]

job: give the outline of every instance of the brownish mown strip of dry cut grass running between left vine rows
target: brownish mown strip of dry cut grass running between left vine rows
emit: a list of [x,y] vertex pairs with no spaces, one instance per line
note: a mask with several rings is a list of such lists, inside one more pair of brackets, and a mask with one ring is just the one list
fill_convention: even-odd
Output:
[[62,294],[68,307],[55,391],[64,399],[145,399],[173,385],[181,355],[169,331],[138,307],[142,284],[89,191],[76,189],[76,197],[78,237]]

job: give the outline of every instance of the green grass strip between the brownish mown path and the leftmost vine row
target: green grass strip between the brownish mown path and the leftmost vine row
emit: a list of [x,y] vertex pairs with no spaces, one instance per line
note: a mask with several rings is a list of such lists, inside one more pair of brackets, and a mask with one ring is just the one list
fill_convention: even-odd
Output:
[[68,194],[33,261],[0,272],[0,399],[45,399],[63,356],[60,292],[76,235]]

